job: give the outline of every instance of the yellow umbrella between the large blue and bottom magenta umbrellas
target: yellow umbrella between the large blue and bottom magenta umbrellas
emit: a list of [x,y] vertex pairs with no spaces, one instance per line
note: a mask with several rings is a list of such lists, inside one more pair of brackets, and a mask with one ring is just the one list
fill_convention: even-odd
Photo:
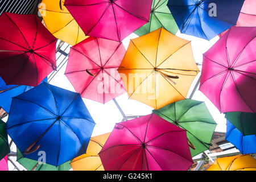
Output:
[[90,138],[86,154],[73,159],[71,166],[73,171],[104,171],[98,153],[109,138],[110,133]]

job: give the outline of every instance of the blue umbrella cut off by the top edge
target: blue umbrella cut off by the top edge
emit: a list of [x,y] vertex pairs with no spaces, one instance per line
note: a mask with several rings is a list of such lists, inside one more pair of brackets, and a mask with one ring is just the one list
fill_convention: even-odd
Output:
[[183,34],[210,40],[236,25],[244,0],[169,0],[169,7]]

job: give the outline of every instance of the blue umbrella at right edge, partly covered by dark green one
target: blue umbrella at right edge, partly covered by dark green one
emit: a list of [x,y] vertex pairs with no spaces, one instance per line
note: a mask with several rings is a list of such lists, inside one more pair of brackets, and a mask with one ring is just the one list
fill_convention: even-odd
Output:
[[236,146],[241,154],[256,153],[256,136],[243,136],[241,131],[228,120],[226,120],[226,140]]

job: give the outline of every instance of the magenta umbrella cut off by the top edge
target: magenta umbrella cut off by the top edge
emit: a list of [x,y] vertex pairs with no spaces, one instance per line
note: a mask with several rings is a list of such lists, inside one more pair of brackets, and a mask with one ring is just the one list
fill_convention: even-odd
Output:
[[85,35],[121,42],[148,22],[152,0],[66,0]]

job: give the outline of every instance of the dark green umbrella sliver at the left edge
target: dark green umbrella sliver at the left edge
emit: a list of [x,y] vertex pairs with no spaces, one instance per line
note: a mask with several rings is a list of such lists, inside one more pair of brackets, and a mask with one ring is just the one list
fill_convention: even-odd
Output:
[[10,153],[5,125],[6,123],[0,119],[0,160]]

